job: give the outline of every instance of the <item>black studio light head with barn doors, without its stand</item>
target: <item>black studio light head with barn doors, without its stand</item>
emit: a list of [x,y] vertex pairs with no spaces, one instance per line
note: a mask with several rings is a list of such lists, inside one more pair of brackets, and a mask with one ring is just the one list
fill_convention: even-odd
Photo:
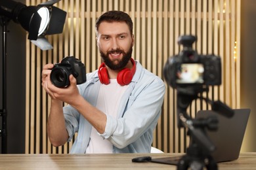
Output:
[[28,39],[42,50],[53,48],[45,35],[62,33],[66,12],[54,7],[60,0],[47,1],[37,6],[26,6],[12,0],[0,0],[0,16],[10,18],[28,31]]

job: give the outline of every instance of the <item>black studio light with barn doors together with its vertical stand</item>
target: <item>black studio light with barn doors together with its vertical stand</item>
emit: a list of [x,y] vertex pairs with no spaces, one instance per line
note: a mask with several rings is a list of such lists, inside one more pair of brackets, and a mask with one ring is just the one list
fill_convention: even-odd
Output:
[[0,129],[1,152],[7,153],[7,23],[10,20],[22,25],[28,31],[28,39],[41,50],[50,50],[53,46],[45,39],[45,35],[62,33],[66,20],[66,12],[54,7],[60,0],[47,1],[37,6],[26,6],[12,0],[0,0],[0,25],[3,27],[3,77],[2,102],[0,109],[2,127]]

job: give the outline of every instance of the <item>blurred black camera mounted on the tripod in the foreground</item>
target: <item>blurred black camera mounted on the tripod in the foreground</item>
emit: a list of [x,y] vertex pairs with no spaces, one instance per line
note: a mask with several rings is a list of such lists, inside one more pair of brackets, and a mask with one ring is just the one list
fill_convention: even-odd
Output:
[[165,80],[173,88],[221,85],[221,58],[214,55],[199,55],[192,49],[196,37],[184,35],[178,44],[183,50],[167,59],[163,69]]

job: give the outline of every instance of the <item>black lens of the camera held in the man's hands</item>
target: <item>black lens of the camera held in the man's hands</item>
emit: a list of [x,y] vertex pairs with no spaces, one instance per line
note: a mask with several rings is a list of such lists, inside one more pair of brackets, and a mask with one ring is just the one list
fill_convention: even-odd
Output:
[[51,82],[58,88],[65,88],[70,85],[69,75],[65,68],[56,67],[51,72]]

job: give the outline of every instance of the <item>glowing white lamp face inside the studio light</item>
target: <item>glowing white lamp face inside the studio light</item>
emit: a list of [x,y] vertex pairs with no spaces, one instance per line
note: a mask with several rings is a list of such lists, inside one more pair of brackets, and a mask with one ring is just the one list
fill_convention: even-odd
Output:
[[39,36],[43,33],[43,31],[45,31],[47,25],[49,24],[50,12],[46,7],[41,7],[39,10],[37,10],[37,12],[39,16],[41,16],[42,18],[40,28],[38,31],[38,36]]

